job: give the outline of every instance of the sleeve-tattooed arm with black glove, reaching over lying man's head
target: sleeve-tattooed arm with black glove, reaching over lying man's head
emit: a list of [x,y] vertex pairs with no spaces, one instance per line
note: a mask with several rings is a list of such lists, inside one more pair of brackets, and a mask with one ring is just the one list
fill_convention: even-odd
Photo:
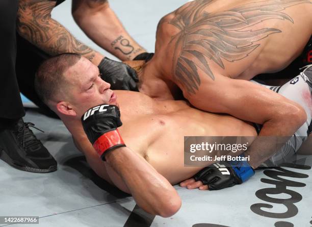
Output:
[[55,1],[20,0],[17,18],[18,33],[49,55],[76,53],[98,66],[102,79],[111,89],[137,90],[134,69],[93,51],[76,40],[60,23],[51,18]]

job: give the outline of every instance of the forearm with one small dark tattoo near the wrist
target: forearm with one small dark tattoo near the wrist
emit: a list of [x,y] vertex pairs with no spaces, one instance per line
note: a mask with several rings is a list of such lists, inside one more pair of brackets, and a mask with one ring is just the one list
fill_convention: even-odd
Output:
[[72,15],[89,38],[122,61],[146,52],[125,31],[107,0],[73,0]]

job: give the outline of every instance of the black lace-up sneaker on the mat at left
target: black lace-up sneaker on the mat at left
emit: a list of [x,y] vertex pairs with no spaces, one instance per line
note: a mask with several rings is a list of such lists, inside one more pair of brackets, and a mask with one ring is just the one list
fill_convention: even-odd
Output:
[[0,129],[0,159],[14,168],[28,172],[56,171],[56,160],[29,128],[37,129],[34,125],[31,122],[24,123],[20,118],[11,127]]

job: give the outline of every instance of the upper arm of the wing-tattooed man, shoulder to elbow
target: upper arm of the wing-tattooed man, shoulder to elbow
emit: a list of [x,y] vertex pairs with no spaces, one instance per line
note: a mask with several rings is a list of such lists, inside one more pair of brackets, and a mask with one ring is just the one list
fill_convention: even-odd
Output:
[[240,119],[264,123],[283,105],[281,95],[245,80],[216,75],[215,80],[201,76],[195,94],[188,95],[190,103],[205,111],[227,113]]

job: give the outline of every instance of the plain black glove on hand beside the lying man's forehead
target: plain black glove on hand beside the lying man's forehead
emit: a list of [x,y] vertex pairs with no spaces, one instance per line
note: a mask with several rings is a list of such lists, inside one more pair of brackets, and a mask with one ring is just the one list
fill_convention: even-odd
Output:
[[137,72],[130,66],[105,57],[97,67],[102,74],[101,78],[111,84],[111,89],[139,91]]

